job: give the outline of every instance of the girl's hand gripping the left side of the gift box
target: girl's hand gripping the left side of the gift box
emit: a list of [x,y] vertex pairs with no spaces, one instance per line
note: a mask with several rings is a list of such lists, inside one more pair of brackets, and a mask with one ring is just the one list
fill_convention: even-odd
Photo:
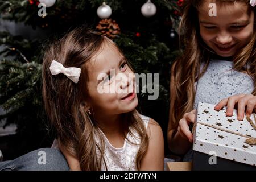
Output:
[[196,110],[192,110],[189,113],[185,113],[183,118],[180,119],[178,132],[184,138],[187,138],[189,142],[193,142],[193,134],[189,130],[189,123],[195,123]]

